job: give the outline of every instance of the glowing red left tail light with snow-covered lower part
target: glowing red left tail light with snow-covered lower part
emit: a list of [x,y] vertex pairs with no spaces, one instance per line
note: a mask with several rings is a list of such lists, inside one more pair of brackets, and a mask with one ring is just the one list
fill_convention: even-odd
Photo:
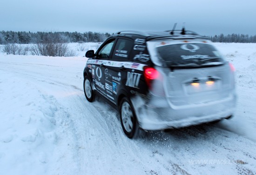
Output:
[[144,67],[144,78],[149,90],[159,96],[164,96],[163,78],[158,70],[154,67]]

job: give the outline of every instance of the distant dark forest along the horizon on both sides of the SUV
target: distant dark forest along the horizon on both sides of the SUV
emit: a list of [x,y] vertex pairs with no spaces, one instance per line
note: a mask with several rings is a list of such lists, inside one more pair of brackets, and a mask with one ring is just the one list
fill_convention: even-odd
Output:
[[[111,34],[109,33],[96,33],[96,32],[13,32],[13,31],[0,31],[0,44],[36,44],[44,40],[48,36],[58,38],[59,42],[103,42]],[[227,43],[256,43],[256,35],[248,34],[220,34],[215,36],[207,36],[213,42],[227,42]]]

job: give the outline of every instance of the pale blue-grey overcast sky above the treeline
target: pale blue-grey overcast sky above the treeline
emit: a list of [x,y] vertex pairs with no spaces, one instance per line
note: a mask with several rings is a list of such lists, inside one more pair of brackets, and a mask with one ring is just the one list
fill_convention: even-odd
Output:
[[256,34],[256,0],[1,0],[0,31]]

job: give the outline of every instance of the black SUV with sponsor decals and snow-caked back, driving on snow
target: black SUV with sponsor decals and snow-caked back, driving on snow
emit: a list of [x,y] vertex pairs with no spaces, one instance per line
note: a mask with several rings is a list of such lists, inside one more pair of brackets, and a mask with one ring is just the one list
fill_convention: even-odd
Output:
[[102,96],[121,115],[124,133],[230,118],[234,67],[211,41],[191,31],[122,31],[86,53],[84,92]]

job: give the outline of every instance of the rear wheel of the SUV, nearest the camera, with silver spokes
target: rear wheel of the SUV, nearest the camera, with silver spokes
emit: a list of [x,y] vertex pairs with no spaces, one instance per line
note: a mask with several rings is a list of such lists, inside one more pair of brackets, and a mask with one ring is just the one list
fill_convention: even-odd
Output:
[[136,119],[134,109],[127,97],[120,103],[120,115],[122,129],[128,138],[137,138],[140,135],[140,128]]

